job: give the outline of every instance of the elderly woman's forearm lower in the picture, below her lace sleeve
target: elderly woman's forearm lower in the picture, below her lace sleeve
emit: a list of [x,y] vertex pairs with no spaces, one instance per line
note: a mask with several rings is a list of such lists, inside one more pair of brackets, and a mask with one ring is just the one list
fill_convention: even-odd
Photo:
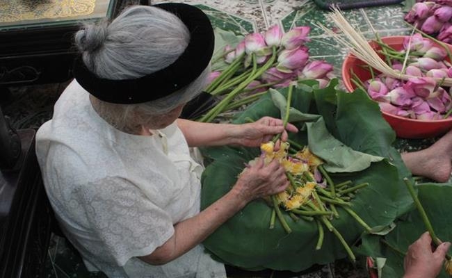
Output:
[[175,225],[175,233],[152,254],[140,257],[152,265],[162,265],[193,249],[213,233],[221,224],[240,211],[247,201],[234,188],[218,201]]

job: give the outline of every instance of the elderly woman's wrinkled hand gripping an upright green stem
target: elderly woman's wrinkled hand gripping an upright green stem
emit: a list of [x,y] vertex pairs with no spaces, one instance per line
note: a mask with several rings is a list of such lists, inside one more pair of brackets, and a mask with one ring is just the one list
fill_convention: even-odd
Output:
[[270,141],[273,136],[282,133],[281,140],[287,140],[287,131],[298,132],[293,124],[287,124],[286,129],[282,120],[273,117],[261,117],[261,119],[250,124],[241,124],[240,132],[237,134],[239,145],[244,147],[259,147],[261,143]]

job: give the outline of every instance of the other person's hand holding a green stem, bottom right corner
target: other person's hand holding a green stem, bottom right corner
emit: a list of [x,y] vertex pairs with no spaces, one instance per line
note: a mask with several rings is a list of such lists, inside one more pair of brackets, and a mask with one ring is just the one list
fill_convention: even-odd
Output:
[[451,243],[440,244],[432,251],[432,238],[426,231],[410,247],[405,256],[403,278],[435,278],[444,264],[444,256]]

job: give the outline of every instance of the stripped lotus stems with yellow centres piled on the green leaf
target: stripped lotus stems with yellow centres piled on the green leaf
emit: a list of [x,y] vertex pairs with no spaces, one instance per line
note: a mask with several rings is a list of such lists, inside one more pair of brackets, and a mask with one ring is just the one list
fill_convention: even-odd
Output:
[[[330,220],[339,218],[336,208],[339,206],[370,232],[371,227],[352,210],[350,203],[357,190],[369,186],[369,183],[354,186],[352,181],[344,181],[334,184],[323,168],[321,158],[312,154],[307,147],[302,147],[293,141],[282,142],[277,150],[275,150],[274,140],[266,142],[261,145],[261,153],[265,156],[264,163],[270,163],[275,159],[279,161],[290,181],[290,186],[285,191],[267,199],[267,202],[273,206],[270,229],[275,227],[275,218],[278,218],[286,232],[291,233],[291,228],[282,215],[284,212],[288,213],[295,222],[315,221],[318,227],[316,250],[321,249],[323,226],[325,226],[339,238],[349,258],[355,261],[355,255],[349,245]],[[257,158],[250,161],[248,165],[256,161]]]

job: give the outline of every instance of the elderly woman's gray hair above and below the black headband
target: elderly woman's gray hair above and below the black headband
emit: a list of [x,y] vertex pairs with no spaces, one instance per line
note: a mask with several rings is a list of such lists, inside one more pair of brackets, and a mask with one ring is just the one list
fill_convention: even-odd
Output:
[[[131,6],[110,24],[85,24],[75,35],[83,63],[106,79],[133,79],[173,63],[186,49],[190,33],[174,14],[152,6]],[[93,98],[97,113],[116,128],[134,133],[150,118],[168,113],[204,88],[209,67],[185,88],[144,104],[111,104]],[[152,88],[149,88],[152,94]]]

